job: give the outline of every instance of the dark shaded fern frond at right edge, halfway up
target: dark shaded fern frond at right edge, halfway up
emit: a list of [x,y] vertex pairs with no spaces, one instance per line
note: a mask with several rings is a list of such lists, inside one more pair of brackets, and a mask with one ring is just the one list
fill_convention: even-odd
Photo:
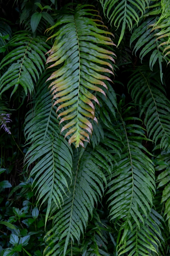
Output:
[[135,103],[139,104],[140,117],[145,115],[144,123],[149,138],[160,143],[157,148],[169,147],[170,101],[165,96],[157,74],[136,70],[128,83],[128,90]]

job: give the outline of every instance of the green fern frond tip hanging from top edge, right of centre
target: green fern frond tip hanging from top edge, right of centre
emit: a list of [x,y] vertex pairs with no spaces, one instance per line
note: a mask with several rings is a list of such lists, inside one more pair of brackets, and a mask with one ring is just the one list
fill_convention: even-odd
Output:
[[138,24],[139,15],[145,13],[145,8],[149,4],[149,1],[100,0],[100,3],[102,4],[104,13],[106,13],[107,9],[107,17],[111,20],[111,24],[114,23],[114,26],[116,26],[117,29],[121,26],[119,45],[123,38],[126,26],[131,30],[134,21]]

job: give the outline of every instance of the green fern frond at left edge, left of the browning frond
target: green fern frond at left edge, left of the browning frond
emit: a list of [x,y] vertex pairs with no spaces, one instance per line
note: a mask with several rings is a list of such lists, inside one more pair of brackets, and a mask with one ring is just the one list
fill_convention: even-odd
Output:
[[44,70],[44,54],[49,46],[43,37],[33,38],[29,32],[16,33],[8,47],[15,47],[1,61],[0,69],[9,64],[9,68],[0,78],[0,95],[10,87],[17,90],[19,84],[24,88],[25,94],[34,92],[34,83],[39,79],[39,72]]

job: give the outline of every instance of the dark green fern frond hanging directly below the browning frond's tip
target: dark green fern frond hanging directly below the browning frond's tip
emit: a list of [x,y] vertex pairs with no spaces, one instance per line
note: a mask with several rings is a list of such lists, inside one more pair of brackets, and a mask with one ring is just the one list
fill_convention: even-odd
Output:
[[[100,161],[91,152],[83,151],[82,148],[80,154],[74,156],[73,179],[69,187],[70,194],[63,196],[64,206],[54,215],[53,228],[47,233],[47,235],[53,233],[54,240],[51,243],[54,243],[56,238],[60,241],[65,238],[64,255],[70,240],[73,243],[74,240],[80,242],[80,234],[84,233],[86,229],[89,214],[92,215],[93,212],[94,203],[97,204],[99,197],[103,196],[103,183],[106,184],[102,168],[99,168]],[[55,206],[54,209],[56,209]],[[50,254],[54,250],[55,248],[52,248]]]

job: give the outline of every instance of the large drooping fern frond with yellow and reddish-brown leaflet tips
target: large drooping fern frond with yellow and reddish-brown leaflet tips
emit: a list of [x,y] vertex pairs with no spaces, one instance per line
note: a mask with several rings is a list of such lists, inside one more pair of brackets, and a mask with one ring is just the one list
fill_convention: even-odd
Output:
[[[101,87],[107,88],[104,80],[111,81],[105,74],[113,74],[111,61],[114,61],[112,56],[115,55],[112,51],[97,46],[97,44],[114,45],[109,37],[113,34],[98,28],[105,28],[101,25],[101,20],[96,20],[96,17],[100,16],[93,14],[93,12],[96,13],[95,10],[85,9],[85,7],[92,8],[78,5],[74,15],[63,15],[54,26],[48,29],[50,31],[59,27],[50,37],[55,37],[55,43],[49,51],[47,63],[54,62],[50,68],[63,64],[48,78],[48,80],[55,79],[50,84],[53,99],[55,99],[54,106],[62,102],[57,112],[63,107],[68,107],[58,115],[58,117],[65,115],[60,123],[69,121],[61,132],[69,128],[65,137],[73,133],[69,144],[75,142],[76,147],[84,146],[83,141],[90,141],[92,124],[89,118],[97,122],[93,102],[99,104],[99,101],[89,89],[105,95]],[[85,15],[94,18],[91,19]]]

